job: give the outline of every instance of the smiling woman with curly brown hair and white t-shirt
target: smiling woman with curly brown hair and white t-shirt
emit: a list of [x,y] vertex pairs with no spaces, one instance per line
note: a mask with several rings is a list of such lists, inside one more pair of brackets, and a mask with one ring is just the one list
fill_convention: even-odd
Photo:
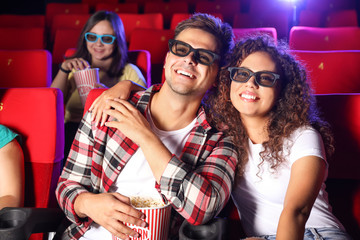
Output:
[[238,143],[232,198],[247,236],[350,239],[325,191],[333,137],[287,45],[244,39],[219,78],[206,102],[213,125]]

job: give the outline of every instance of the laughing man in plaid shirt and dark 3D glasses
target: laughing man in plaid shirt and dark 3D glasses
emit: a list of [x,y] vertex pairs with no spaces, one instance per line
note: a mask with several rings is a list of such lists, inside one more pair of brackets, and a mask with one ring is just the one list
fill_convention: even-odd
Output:
[[[163,86],[109,100],[105,126],[88,112],[79,127],[57,198],[72,224],[64,239],[128,239],[144,226],[128,196],[160,193],[183,218],[202,224],[229,199],[237,155],[232,140],[206,121],[201,101],[215,85],[232,29],[195,14],[169,42]],[[174,218],[173,218],[174,219]]]

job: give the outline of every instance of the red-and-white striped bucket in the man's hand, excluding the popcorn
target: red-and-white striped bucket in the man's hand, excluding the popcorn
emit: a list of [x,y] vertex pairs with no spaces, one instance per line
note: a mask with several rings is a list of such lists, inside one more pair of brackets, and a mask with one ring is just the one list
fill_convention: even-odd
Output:
[[[136,207],[146,216],[145,221],[148,223],[146,228],[127,224],[140,234],[139,238],[133,240],[167,240],[170,228],[171,205],[159,207]],[[121,240],[113,236],[113,240]]]

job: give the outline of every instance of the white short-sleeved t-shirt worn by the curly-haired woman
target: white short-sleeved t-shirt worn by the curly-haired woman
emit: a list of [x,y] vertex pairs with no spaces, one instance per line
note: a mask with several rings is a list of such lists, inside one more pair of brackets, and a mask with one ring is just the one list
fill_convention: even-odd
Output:
[[[268,171],[269,163],[267,162],[259,170],[258,164],[261,161],[259,153],[263,150],[263,146],[253,144],[249,140],[249,161],[246,164],[244,176],[237,181],[232,192],[233,201],[248,236],[276,234],[290,180],[291,166],[296,160],[305,156],[317,156],[326,161],[321,136],[312,128],[298,129],[284,143],[284,146],[288,146],[283,150],[287,161],[274,173],[274,171]],[[327,172],[324,181],[326,177]],[[341,223],[331,213],[324,183],[305,227],[343,229]]]

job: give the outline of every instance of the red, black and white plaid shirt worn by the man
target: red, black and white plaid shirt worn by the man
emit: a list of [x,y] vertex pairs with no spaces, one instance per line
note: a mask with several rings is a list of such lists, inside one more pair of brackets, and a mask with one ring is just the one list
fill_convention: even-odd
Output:
[[[136,93],[130,102],[145,115],[152,94],[159,89],[153,86]],[[78,239],[92,223],[90,218],[76,215],[76,197],[83,192],[108,192],[138,149],[119,130],[97,127],[90,119],[88,112],[80,123],[56,189],[59,205],[72,222],[63,239]],[[211,128],[201,107],[181,156],[172,156],[157,186],[173,209],[191,224],[207,222],[228,201],[237,164],[234,149],[231,138]]]

